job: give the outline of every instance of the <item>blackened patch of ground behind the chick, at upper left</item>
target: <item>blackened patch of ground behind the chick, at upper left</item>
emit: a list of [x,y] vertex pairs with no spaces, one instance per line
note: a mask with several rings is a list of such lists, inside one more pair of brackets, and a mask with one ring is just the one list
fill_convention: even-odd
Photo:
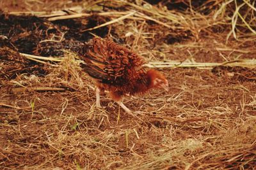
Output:
[[[88,22],[84,22],[83,18],[49,22],[35,16],[0,13],[0,46],[8,46],[22,53],[61,57],[63,50],[77,52],[84,42],[93,37],[81,30],[104,21],[97,15],[90,17]],[[92,32],[105,36],[108,28],[102,27]]]

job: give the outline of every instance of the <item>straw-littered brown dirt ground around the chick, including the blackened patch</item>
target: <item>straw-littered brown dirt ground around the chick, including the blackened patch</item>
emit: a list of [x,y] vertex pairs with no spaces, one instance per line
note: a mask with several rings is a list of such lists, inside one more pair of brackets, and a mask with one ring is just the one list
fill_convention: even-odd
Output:
[[0,2],[0,169],[255,169],[255,65],[159,68],[169,91],[126,97],[124,104],[137,111],[132,117],[107,95],[104,107],[95,108],[94,85],[77,59],[97,34],[148,62],[253,63],[256,36],[227,41],[230,27],[213,24],[195,33],[139,15],[84,31],[131,4],[94,3],[90,17],[42,17],[89,2]]

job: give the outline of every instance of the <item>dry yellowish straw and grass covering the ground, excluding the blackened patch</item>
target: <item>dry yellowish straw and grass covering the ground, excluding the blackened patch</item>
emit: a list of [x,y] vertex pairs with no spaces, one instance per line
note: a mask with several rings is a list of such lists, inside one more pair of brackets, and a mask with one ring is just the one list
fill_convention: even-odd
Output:
[[205,1],[205,15],[167,10],[164,1],[44,2],[26,1],[34,5],[24,10],[86,20],[91,14],[77,6],[58,11],[80,4],[108,18],[108,36],[164,67],[170,91],[127,97],[138,118],[107,95],[97,109],[76,53],[45,58],[0,47],[0,169],[255,169],[254,3]]

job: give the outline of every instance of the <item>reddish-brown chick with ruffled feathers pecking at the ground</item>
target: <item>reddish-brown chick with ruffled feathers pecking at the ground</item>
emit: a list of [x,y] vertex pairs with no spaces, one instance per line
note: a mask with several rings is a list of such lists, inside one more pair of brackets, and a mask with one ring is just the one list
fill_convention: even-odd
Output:
[[95,81],[96,106],[100,107],[100,92],[107,90],[109,97],[127,113],[131,113],[122,97],[145,94],[150,89],[168,90],[168,81],[155,69],[143,67],[144,60],[124,46],[102,38],[93,38],[83,48],[81,64]]

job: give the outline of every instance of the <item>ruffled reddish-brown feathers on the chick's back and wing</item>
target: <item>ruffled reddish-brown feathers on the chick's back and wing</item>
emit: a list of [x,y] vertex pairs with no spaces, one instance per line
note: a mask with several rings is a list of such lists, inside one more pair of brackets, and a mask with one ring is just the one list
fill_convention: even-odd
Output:
[[107,39],[93,38],[84,48],[84,71],[101,83],[123,85],[136,78],[144,64],[136,53]]

